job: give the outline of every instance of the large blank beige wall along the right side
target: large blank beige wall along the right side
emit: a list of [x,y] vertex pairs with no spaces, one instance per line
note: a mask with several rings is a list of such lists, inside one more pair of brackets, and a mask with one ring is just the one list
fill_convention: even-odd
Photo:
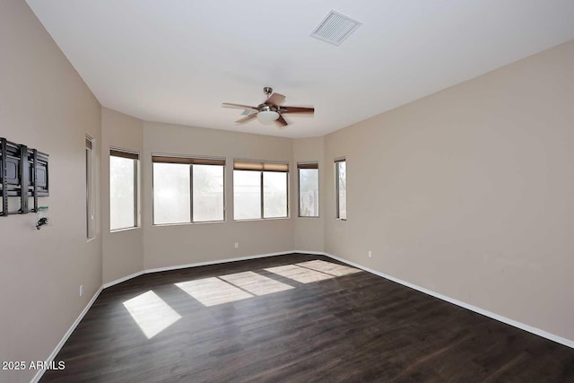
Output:
[[574,41],[327,135],[326,252],[574,339],[572,68]]

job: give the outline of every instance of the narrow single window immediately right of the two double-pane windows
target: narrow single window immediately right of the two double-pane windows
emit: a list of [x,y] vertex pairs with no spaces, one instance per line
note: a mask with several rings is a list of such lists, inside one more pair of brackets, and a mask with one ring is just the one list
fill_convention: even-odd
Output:
[[319,216],[319,165],[299,163],[299,216]]

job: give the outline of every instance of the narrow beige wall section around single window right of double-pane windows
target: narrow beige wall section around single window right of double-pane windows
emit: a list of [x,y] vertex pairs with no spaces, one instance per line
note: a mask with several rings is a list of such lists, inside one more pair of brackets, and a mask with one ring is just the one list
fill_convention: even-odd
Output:
[[[299,138],[293,140],[293,179],[291,188],[292,216],[295,219],[293,226],[294,250],[300,251],[325,251],[325,190],[321,187],[325,184],[326,171],[331,170],[330,162],[324,161],[324,138]],[[297,172],[297,162],[317,161],[319,164],[319,217],[299,217],[299,177]]]

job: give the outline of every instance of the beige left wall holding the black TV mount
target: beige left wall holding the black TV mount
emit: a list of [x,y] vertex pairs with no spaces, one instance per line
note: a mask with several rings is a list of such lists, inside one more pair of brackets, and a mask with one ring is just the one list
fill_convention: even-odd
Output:
[[[0,217],[0,361],[45,360],[101,286],[84,160],[84,135],[100,144],[100,104],[23,1],[0,2],[0,57],[0,136],[49,154],[40,205],[53,222],[37,231],[34,213]],[[35,373],[0,370],[0,382]]]

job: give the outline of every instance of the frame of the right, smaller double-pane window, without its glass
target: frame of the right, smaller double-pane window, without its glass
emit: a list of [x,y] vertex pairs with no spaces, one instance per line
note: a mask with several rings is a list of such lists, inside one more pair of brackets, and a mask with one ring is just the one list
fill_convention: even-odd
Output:
[[[239,169],[238,169],[239,168]],[[260,206],[260,214],[259,218],[243,218],[237,219],[235,217],[235,170],[239,171],[255,171],[259,172],[260,177],[260,185],[259,185],[259,206]],[[285,173],[285,210],[286,215],[281,217],[265,217],[265,183],[264,183],[264,173],[265,172],[278,172],[278,173]],[[247,221],[263,221],[263,220],[285,220],[291,218],[291,204],[289,203],[290,199],[290,182],[289,182],[289,162],[288,161],[257,161],[257,160],[241,160],[241,159],[234,159],[233,160],[233,221],[234,222],[247,222]]]

